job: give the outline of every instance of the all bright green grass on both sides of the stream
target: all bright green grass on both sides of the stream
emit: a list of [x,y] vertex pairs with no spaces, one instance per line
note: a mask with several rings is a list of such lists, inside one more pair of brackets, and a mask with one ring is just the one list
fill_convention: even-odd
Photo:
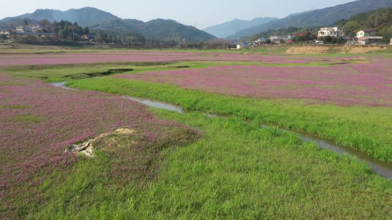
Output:
[[[39,186],[26,183],[15,198],[9,198],[12,207],[0,202],[0,213],[12,210],[14,219],[392,219],[390,180],[369,170],[365,162],[322,150],[316,143],[301,141],[294,132],[278,129],[308,132],[392,163],[389,107],[308,105],[295,99],[225,96],[107,76],[84,79],[89,77],[85,73],[107,69],[130,68],[134,71],[127,73],[140,73],[182,65],[272,66],[245,61],[184,61],[165,65],[83,64],[2,70],[4,76],[22,81],[49,83],[76,79],[66,85],[179,105],[190,112],[149,110],[158,119],[196,128],[201,137],[172,130],[166,134],[167,139],[138,149],[132,148],[132,144],[142,139],[117,137],[116,146],[125,146],[121,153],[98,148],[93,159],[80,157],[65,173],[53,169]],[[0,84],[0,89],[28,86],[9,80]],[[25,106],[0,105],[0,109],[6,108],[18,110]],[[201,112],[227,117],[209,118]],[[19,115],[9,120],[39,123],[44,119]],[[261,128],[261,123],[269,126]],[[104,147],[105,141],[101,145]],[[153,160],[140,159],[151,153],[150,148],[162,151]],[[142,167],[156,162],[153,178],[145,178],[137,169],[123,173],[127,178],[113,177],[113,164],[125,156],[140,159],[134,163]],[[24,202],[25,197],[36,199]]]

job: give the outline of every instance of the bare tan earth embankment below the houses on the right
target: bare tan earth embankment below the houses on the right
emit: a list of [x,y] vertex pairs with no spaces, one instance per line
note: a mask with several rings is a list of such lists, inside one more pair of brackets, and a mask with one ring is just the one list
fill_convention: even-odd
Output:
[[368,53],[375,50],[390,50],[389,45],[294,45],[287,54]]

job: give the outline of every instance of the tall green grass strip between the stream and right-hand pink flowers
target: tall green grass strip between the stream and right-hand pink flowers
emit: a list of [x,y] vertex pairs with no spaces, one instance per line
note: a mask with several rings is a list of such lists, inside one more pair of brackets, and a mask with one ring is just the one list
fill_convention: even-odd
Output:
[[301,130],[392,162],[392,120],[386,107],[305,105],[298,100],[251,99],[118,78],[71,81],[73,88],[142,97]]

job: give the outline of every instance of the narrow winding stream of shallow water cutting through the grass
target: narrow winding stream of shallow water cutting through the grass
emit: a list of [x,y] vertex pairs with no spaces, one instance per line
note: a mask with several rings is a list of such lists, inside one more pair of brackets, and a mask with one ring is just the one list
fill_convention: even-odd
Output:
[[[60,87],[60,88],[64,88],[64,89],[76,90],[74,88],[70,88],[70,87],[65,86],[65,83],[66,83],[66,81],[62,81],[62,82],[57,82],[57,83],[51,83],[51,85],[56,86],[56,87]],[[169,111],[178,112],[179,114],[187,113],[186,111],[182,110],[181,106],[171,105],[168,103],[153,101],[153,100],[149,100],[149,99],[140,99],[140,98],[136,98],[136,97],[132,97],[132,96],[121,96],[121,97],[124,99],[130,99],[132,101],[142,103],[142,104],[150,106],[150,107],[166,109]],[[203,113],[203,114],[206,117],[219,117],[219,116],[221,116],[218,114],[211,114],[211,113]],[[266,126],[267,126],[266,124],[261,124],[261,128],[266,127]],[[373,170],[375,173],[377,173],[380,176],[385,177],[389,180],[392,180],[392,164],[388,164],[388,163],[376,160],[361,151],[354,150],[352,148],[339,146],[332,141],[324,140],[316,135],[312,135],[312,134],[297,131],[297,130],[289,130],[289,129],[285,129],[285,128],[279,128],[279,130],[283,130],[285,132],[295,132],[299,135],[299,138],[302,141],[315,142],[322,149],[332,150],[332,151],[339,153],[339,154],[353,155],[358,160],[366,162],[368,167],[371,170]]]

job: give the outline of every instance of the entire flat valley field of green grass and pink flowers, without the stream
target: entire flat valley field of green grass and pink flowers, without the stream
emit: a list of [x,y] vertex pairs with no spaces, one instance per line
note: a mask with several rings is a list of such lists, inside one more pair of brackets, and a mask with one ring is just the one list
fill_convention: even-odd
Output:
[[0,54],[0,219],[391,219],[388,56]]

